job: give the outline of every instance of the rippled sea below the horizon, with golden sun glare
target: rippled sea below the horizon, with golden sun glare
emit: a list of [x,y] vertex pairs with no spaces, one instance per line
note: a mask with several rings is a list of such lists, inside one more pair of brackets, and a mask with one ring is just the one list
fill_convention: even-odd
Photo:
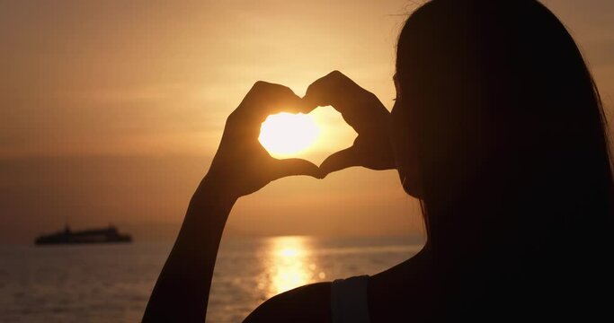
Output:
[[[0,322],[138,322],[171,247],[0,246]],[[416,237],[225,238],[206,322],[241,322],[280,292],[377,274],[421,248]]]

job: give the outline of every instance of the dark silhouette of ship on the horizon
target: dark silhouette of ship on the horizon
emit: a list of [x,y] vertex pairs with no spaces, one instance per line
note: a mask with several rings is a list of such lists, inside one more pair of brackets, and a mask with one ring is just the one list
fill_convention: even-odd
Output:
[[67,225],[64,231],[41,235],[34,240],[35,245],[49,244],[77,244],[77,243],[109,243],[131,242],[129,234],[121,234],[113,225],[102,229],[89,229],[84,231],[71,231]]

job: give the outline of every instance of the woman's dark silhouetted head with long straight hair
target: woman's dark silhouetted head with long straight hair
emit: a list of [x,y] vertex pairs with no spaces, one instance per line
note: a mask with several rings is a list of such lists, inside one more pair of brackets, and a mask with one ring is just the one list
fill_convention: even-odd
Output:
[[611,287],[606,121],[556,16],[529,0],[424,4],[395,80],[397,168],[423,204],[440,317],[601,306],[589,291]]

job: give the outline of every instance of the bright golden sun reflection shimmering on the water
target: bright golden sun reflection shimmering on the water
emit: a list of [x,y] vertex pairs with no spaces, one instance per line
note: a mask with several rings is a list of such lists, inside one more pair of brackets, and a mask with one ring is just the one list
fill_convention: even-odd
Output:
[[316,265],[309,262],[311,246],[307,237],[272,238],[269,251],[269,297],[314,282],[312,271]]

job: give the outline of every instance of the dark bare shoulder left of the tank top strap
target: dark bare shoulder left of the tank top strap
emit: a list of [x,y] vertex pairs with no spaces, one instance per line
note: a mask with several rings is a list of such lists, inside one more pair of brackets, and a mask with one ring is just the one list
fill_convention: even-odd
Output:
[[244,322],[330,322],[330,304],[331,283],[308,284],[263,302]]

